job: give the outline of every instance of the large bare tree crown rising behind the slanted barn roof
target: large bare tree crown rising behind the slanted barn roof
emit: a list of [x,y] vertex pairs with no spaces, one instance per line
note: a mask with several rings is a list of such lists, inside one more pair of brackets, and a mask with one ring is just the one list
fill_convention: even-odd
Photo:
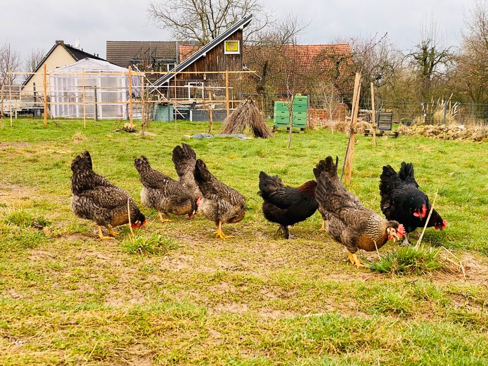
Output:
[[180,41],[206,44],[240,19],[255,14],[246,37],[271,23],[271,17],[259,0],[175,0],[149,3],[149,18],[162,29],[170,29]]

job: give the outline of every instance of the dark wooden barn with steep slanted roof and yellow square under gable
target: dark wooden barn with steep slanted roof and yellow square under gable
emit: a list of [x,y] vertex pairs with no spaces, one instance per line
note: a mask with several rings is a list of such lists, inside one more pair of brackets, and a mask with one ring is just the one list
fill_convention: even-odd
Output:
[[[252,15],[242,18],[201,48],[180,46],[182,62],[174,68],[175,74],[163,75],[153,84],[159,89],[160,95],[173,101],[191,102],[207,99],[211,93],[214,101],[224,100],[225,75],[212,72],[243,70],[242,31],[251,19]],[[243,75],[246,74],[229,74],[229,89],[233,97],[238,95],[236,85],[238,79],[246,77]]]

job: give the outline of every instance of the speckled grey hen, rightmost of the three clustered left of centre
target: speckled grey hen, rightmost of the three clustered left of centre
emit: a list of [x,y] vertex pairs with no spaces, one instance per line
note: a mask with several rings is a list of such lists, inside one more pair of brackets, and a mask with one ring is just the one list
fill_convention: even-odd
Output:
[[202,196],[197,199],[198,210],[218,226],[214,233],[218,238],[230,237],[222,231],[222,224],[234,224],[244,218],[246,199],[219,181],[200,159],[196,161],[194,177],[202,192]]

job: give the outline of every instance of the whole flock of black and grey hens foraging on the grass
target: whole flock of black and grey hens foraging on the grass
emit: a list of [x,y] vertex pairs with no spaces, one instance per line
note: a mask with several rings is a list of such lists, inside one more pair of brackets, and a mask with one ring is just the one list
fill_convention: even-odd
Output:
[[[172,161],[178,180],[151,167],[147,158],[135,159],[143,185],[141,201],[144,206],[158,211],[160,221],[171,220],[171,215],[192,218],[201,212],[218,227],[218,238],[228,238],[222,224],[241,221],[246,215],[246,199],[210,173],[201,159],[197,159],[190,145],[183,143],[173,149]],[[356,266],[363,264],[356,257],[358,249],[374,251],[388,240],[404,238],[423,227],[443,229],[446,226],[439,214],[431,210],[429,198],[418,188],[413,165],[402,163],[398,173],[387,165],[380,176],[381,210],[386,219],[375,211],[364,208],[358,198],[347,191],[337,175],[338,158],[321,160],[313,169],[316,180],[298,188],[283,185],[281,178],[264,172],[259,174],[259,192],[266,220],[279,224],[285,238],[290,237],[289,226],[306,220],[318,209],[327,231],[334,240],[349,251],[349,260]],[[132,197],[95,173],[88,151],[77,156],[72,164],[71,209],[80,218],[93,220],[98,225],[101,239],[116,236],[113,228],[130,223],[141,228],[146,220]],[[163,214],[165,218],[163,217]],[[325,224],[326,223],[326,224]],[[102,227],[111,236],[104,236]]]

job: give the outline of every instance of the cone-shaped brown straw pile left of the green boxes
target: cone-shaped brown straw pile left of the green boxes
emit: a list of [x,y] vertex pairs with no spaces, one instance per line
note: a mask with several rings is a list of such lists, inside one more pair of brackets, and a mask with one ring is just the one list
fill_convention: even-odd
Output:
[[273,137],[273,133],[266,125],[264,114],[256,106],[252,98],[248,98],[235,108],[225,119],[223,134],[236,134],[250,131],[254,137]]

